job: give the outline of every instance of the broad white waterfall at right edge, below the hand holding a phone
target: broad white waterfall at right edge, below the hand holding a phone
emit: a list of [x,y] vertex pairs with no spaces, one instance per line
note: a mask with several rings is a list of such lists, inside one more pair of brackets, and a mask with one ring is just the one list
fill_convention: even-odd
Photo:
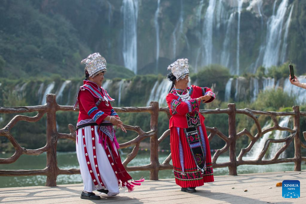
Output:
[[[306,75],[297,76],[297,78],[299,79],[300,83],[306,83]],[[283,90],[289,95],[294,96],[298,104],[305,104],[306,89],[294,86],[290,83],[289,79],[286,79],[284,82]]]

